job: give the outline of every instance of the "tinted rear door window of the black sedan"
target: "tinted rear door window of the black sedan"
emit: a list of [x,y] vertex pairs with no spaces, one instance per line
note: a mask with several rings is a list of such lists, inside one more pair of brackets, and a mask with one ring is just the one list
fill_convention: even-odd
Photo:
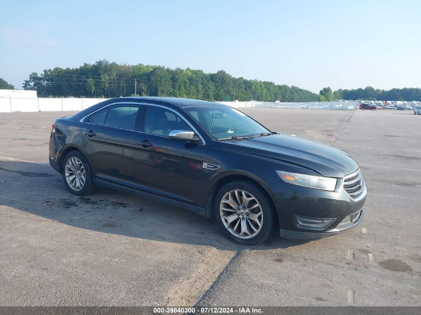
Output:
[[108,110],[105,125],[123,129],[134,130],[139,106],[113,105]]

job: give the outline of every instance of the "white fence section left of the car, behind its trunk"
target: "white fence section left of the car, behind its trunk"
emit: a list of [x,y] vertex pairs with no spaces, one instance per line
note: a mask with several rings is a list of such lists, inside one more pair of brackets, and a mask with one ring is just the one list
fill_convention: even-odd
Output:
[[108,99],[85,98],[0,98],[0,112],[83,110]]

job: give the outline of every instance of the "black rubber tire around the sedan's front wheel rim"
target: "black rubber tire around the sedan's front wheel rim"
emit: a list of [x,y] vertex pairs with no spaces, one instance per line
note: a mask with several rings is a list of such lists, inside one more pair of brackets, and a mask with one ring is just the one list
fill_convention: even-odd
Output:
[[[233,233],[231,233],[223,223],[223,219],[221,218],[221,215],[220,215],[220,205],[222,202],[222,198],[228,192],[233,191],[233,190],[243,190],[251,194],[252,197],[254,197],[255,200],[260,205],[260,208],[263,213],[263,216],[262,216],[263,221],[262,221],[259,232],[253,237],[250,237],[250,238],[237,237]],[[220,227],[220,229],[222,230],[222,232],[225,234],[227,238],[233,240],[236,243],[239,243],[242,245],[260,244],[266,241],[275,230],[276,215],[275,215],[275,210],[273,209],[273,206],[269,200],[269,196],[266,194],[266,192],[264,192],[264,190],[261,187],[255,184],[244,182],[244,181],[233,181],[233,182],[227,183],[224,186],[222,186],[221,189],[216,194],[214,204],[215,204],[214,213],[215,213],[215,218],[216,218],[218,226]],[[242,217],[240,216],[240,221],[241,221],[241,218]],[[246,219],[245,221],[247,222],[248,220]],[[251,229],[249,230],[252,231]]]

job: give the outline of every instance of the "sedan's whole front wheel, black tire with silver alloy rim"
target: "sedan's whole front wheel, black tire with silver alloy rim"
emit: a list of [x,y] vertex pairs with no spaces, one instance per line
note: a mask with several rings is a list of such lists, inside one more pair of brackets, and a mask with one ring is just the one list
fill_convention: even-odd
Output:
[[217,193],[215,217],[228,238],[243,245],[253,245],[271,236],[276,216],[268,196],[260,187],[234,181]]

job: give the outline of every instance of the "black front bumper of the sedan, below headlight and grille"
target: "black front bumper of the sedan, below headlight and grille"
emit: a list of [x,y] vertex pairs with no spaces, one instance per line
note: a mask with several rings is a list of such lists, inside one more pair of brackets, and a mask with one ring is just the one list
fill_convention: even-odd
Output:
[[[366,201],[367,189],[356,199],[351,198],[337,186],[335,192],[322,191],[279,182],[271,186],[274,192],[275,207],[279,217],[280,236],[290,239],[315,239],[335,236],[358,225],[364,211],[355,221],[342,225],[349,215],[362,210]],[[303,226],[299,217],[331,220],[325,227]],[[338,226],[339,225],[339,226]]]

